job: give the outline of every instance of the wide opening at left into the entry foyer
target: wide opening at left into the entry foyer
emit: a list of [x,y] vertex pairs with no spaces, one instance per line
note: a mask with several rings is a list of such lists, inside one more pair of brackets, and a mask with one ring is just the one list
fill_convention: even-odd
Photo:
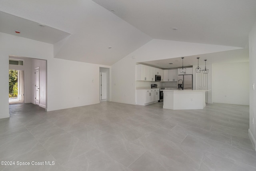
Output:
[[9,95],[12,97],[11,100],[19,100],[18,103],[33,103],[47,109],[47,61],[9,56],[9,70],[16,70],[17,83],[13,85],[16,84],[19,87],[18,95],[16,89],[14,91],[16,95]]

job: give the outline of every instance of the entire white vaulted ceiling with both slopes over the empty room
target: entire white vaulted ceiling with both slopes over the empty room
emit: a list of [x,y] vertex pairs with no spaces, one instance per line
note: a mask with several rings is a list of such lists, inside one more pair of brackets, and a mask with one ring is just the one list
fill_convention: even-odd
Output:
[[1,0],[0,11],[0,32],[110,66],[154,38],[244,48],[256,21],[255,0]]

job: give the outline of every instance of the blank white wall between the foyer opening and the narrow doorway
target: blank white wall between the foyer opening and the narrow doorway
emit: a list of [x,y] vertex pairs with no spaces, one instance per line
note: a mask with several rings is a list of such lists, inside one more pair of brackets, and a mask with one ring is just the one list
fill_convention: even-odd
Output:
[[47,60],[47,109],[99,103],[99,66],[61,59]]

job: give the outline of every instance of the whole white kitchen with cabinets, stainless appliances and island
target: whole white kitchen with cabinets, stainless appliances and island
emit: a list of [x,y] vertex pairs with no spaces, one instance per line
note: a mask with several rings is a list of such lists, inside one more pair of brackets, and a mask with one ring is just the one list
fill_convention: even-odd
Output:
[[193,88],[192,66],[160,69],[136,65],[136,105],[163,101],[165,109],[203,109],[206,91]]

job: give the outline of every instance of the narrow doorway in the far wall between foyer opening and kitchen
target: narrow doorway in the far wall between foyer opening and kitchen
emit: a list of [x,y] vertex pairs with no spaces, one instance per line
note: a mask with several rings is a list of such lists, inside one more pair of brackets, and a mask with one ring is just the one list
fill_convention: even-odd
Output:
[[100,67],[100,101],[109,100],[109,68]]

